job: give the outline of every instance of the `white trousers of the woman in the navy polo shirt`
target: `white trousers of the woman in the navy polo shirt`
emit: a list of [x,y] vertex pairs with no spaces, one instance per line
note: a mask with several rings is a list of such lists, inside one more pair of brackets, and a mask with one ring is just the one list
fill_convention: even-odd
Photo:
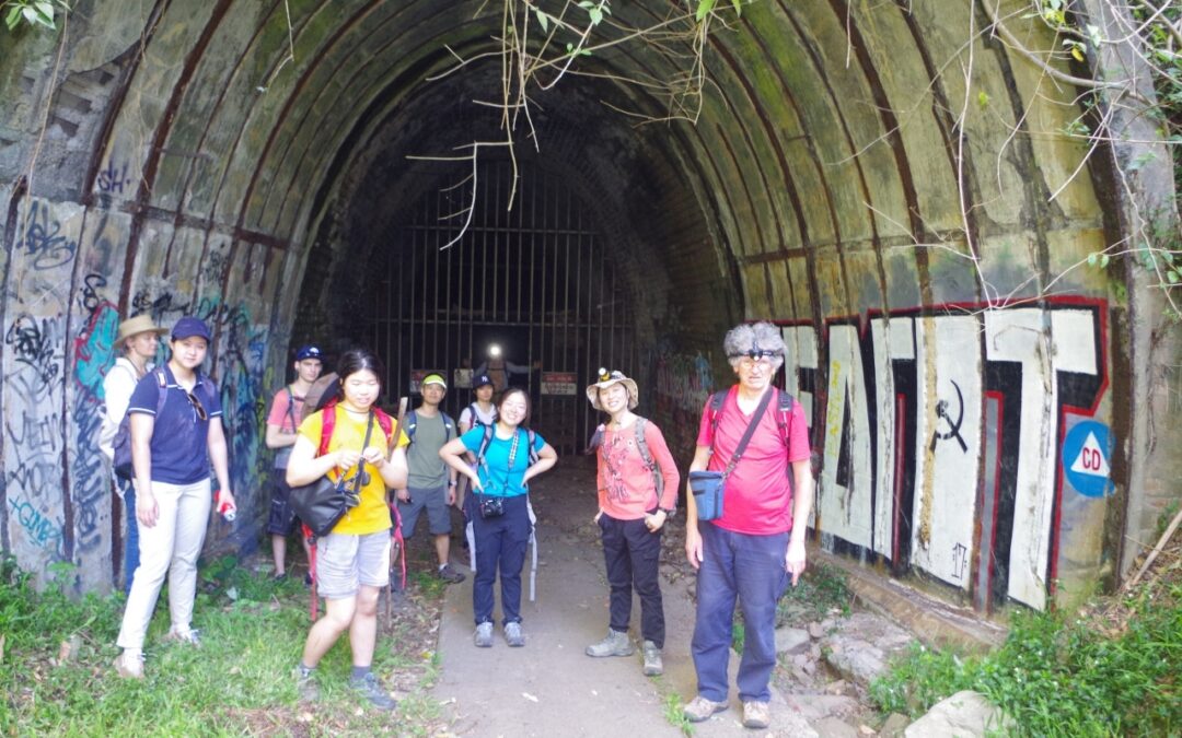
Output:
[[173,629],[189,631],[197,590],[197,556],[206,542],[213,489],[209,479],[193,484],[151,483],[160,517],[139,525],[139,568],[136,569],[119,628],[121,648],[143,648],[160,588],[168,575],[168,610]]

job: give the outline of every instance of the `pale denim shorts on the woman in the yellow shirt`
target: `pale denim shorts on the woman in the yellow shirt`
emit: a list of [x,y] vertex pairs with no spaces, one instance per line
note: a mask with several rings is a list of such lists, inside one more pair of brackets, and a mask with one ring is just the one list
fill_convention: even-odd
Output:
[[330,533],[316,540],[316,588],[326,600],[348,600],[359,584],[390,582],[390,531],[363,536]]

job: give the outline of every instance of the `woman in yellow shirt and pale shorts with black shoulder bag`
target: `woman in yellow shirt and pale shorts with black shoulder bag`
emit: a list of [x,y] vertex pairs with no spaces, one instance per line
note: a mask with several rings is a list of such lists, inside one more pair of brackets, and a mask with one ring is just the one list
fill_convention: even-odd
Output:
[[[387,488],[407,484],[408,438],[388,456],[392,427],[389,416],[377,409],[382,393],[382,365],[372,352],[355,348],[340,357],[337,399],[311,414],[299,426],[287,462],[287,483],[311,484],[327,475],[353,478],[362,475],[359,503],[350,509],[326,536],[317,538],[317,589],[325,599],[324,618],[307,634],[297,667],[300,699],[314,701],[319,687],[314,671],[320,659],[349,631],[353,652],[350,686],[379,710],[394,710],[395,701],[370,671],[377,640],[378,594],[389,582],[390,508]],[[323,443],[324,419],[332,413],[331,437]],[[384,426],[384,427],[383,427]],[[365,444],[366,431],[370,436]]]

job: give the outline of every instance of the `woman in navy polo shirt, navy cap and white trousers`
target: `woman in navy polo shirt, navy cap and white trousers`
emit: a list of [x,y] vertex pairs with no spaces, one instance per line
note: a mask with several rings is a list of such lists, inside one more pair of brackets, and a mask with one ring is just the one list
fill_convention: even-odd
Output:
[[[212,492],[209,463],[222,499],[229,489],[221,400],[213,381],[199,367],[209,350],[209,328],[196,318],[173,327],[171,358],[160,372],[136,385],[128,405],[131,416],[131,463],[136,475],[136,520],[139,522],[139,568],[123,610],[115,660],[121,677],[143,677],[143,642],[168,575],[168,609],[173,627],[167,640],[200,646],[190,628],[197,586],[197,555],[206,540]],[[165,393],[161,404],[161,392]],[[157,409],[158,412],[157,412]]]

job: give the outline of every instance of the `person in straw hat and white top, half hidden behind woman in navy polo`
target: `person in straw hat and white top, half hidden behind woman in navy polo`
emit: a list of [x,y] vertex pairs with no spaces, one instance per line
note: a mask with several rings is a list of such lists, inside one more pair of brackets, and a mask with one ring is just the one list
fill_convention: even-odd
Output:
[[[160,348],[160,337],[168,332],[161,328],[150,315],[136,315],[119,324],[115,337],[115,348],[123,350],[123,355],[115,360],[115,366],[106,371],[103,378],[103,394],[106,398],[106,416],[99,430],[98,448],[111,463],[115,462],[115,432],[128,412],[128,403],[136,383],[155,366],[152,359]],[[115,476],[112,474],[112,476]],[[136,522],[136,490],[131,482],[115,478],[115,491],[123,501],[128,521],[128,534],[123,549],[123,592],[131,592],[131,577],[139,566],[139,525]]]

